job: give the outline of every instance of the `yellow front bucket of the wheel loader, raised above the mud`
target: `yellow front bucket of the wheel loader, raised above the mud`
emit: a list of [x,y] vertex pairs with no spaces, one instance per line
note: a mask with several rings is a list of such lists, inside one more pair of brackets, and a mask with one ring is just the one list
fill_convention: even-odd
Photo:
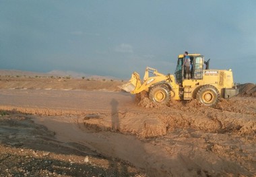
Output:
[[131,74],[131,79],[127,83],[122,85],[120,88],[125,92],[133,92],[140,86],[141,86],[141,82],[140,82],[139,74],[136,72],[133,72]]

